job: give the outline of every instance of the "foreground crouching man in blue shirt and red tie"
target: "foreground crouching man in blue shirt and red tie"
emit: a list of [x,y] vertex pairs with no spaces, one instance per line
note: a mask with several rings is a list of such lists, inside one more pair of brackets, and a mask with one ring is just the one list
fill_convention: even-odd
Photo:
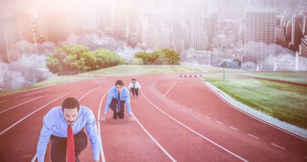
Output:
[[68,127],[72,126],[74,136],[76,162],[79,155],[87,146],[87,136],[83,130],[86,126],[89,135],[94,161],[99,161],[100,137],[96,119],[91,109],[80,106],[77,99],[69,97],[64,99],[62,106],[52,108],[44,117],[43,125],[37,145],[37,160],[43,162],[46,149],[51,140],[51,160],[66,161]]

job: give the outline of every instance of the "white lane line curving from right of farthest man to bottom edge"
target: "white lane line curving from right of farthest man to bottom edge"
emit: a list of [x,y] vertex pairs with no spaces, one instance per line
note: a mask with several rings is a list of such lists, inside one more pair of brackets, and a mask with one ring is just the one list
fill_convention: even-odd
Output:
[[[147,81],[147,82],[148,82],[148,81]],[[144,82],[144,83],[146,83],[146,82]],[[143,84],[144,84],[144,83],[143,83]],[[143,84],[142,84],[142,85],[143,85]],[[222,147],[222,146],[220,146],[220,145],[214,143],[214,141],[212,141],[212,140],[208,139],[207,137],[201,135],[200,133],[198,133],[198,132],[192,130],[191,128],[187,127],[186,125],[180,123],[178,120],[176,120],[175,118],[171,117],[170,115],[168,115],[167,113],[165,113],[164,111],[162,111],[160,108],[158,108],[155,104],[152,104],[152,103],[150,102],[150,100],[144,95],[142,89],[141,89],[141,93],[143,94],[143,96],[146,98],[146,100],[147,100],[151,105],[153,105],[154,107],[156,107],[158,110],[160,110],[160,111],[161,111],[162,113],[164,113],[166,116],[170,117],[171,119],[173,119],[174,121],[176,121],[177,123],[179,123],[180,125],[182,125],[183,127],[187,128],[188,130],[192,131],[193,133],[195,133],[195,134],[197,134],[197,135],[203,137],[204,139],[210,141],[210,143],[214,144],[214,145],[217,146],[217,147],[220,147],[221,149],[223,149],[223,150],[227,151],[228,153],[232,154],[233,156],[235,156],[235,157],[237,157],[237,158],[239,158],[239,159],[241,159],[241,160],[243,160],[243,161],[247,161],[246,159],[244,159],[244,158],[242,158],[242,157],[240,157],[240,156],[234,154],[233,152],[227,150],[226,148],[224,148],[224,147]]]

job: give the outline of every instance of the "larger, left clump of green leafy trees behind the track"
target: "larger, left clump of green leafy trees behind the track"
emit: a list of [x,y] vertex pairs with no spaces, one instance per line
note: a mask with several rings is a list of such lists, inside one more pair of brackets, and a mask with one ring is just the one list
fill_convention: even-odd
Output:
[[53,73],[76,73],[124,65],[126,61],[116,52],[106,49],[91,51],[82,45],[65,45],[56,48],[46,58],[47,68]]

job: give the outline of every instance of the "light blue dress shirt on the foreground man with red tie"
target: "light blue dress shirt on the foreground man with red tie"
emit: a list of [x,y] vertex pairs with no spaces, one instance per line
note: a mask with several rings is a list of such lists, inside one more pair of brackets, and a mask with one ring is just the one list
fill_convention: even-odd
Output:
[[[87,134],[90,137],[92,144],[92,150],[94,160],[99,160],[100,152],[100,137],[98,134],[96,119],[91,109],[80,106],[78,117],[75,123],[72,125],[73,134],[79,133],[82,128],[86,126]],[[58,137],[67,137],[68,124],[63,116],[62,107],[52,108],[43,117],[43,126],[40,131],[39,141],[37,145],[37,160],[43,162],[47,150],[47,144],[49,143],[51,134]]]

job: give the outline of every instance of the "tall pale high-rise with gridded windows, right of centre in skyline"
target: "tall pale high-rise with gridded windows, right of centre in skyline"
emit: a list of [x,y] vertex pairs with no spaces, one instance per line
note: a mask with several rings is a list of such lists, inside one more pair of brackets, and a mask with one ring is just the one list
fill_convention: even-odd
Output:
[[276,9],[248,7],[245,11],[245,68],[273,71]]

